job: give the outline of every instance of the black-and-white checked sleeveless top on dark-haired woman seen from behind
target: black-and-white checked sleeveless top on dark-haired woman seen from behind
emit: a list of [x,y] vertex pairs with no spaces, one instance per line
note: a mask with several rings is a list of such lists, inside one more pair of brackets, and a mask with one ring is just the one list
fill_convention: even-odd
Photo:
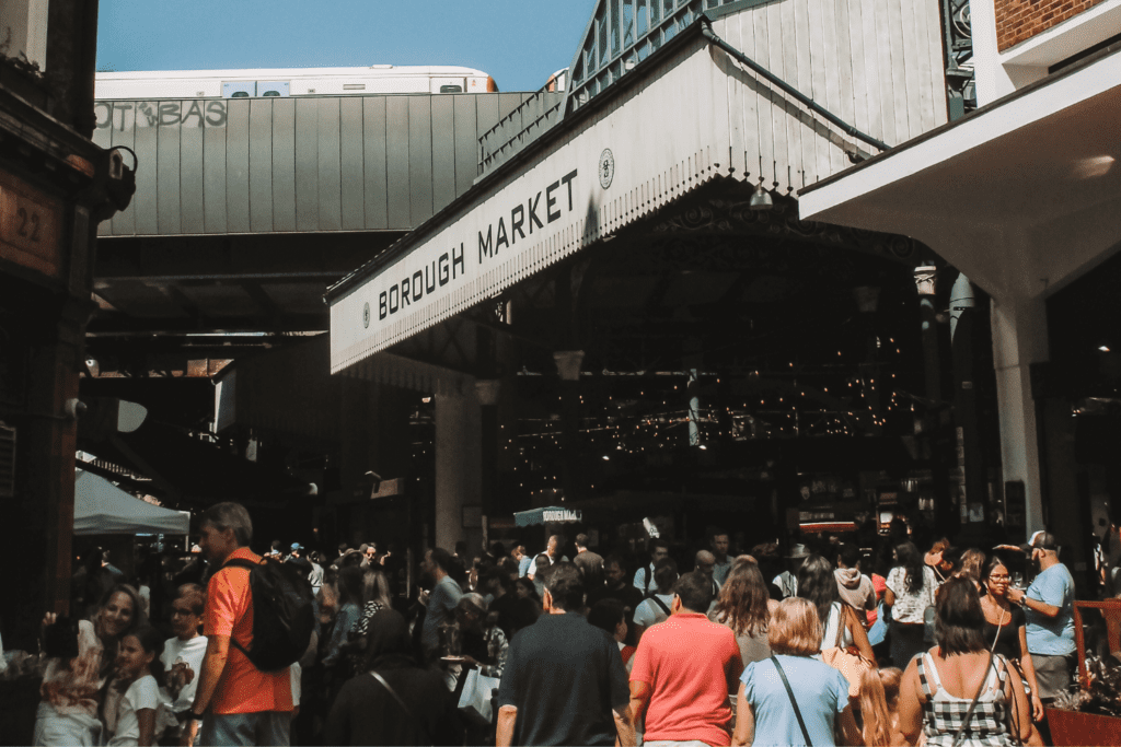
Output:
[[[918,654],[917,659],[918,679],[923,683],[923,694],[926,695],[923,704],[923,730],[927,747],[952,747],[973,698],[957,698],[946,692],[929,653]],[[1008,662],[999,654],[992,662],[993,665],[985,673],[984,689],[973,709],[973,717],[958,743],[960,747],[1002,747],[1013,744],[1008,734],[1008,706],[1004,699]]]

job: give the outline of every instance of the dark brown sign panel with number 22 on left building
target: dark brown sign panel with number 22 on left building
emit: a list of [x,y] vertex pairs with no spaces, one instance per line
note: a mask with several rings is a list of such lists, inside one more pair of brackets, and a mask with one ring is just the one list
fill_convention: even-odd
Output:
[[59,278],[62,204],[0,171],[0,258],[48,278]]

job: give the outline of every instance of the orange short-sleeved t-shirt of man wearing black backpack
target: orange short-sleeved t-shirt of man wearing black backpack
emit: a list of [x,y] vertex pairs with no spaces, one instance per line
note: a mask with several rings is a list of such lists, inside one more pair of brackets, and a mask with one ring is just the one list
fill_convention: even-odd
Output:
[[[260,555],[249,548],[238,548],[229,560],[243,558],[260,562]],[[206,637],[224,635],[249,648],[253,641],[253,603],[249,590],[249,570],[220,568],[206,585],[206,609],[203,611]],[[211,699],[214,713],[256,713],[290,711],[291,683],[288,667],[279,672],[261,672],[232,643],[230,656]]]

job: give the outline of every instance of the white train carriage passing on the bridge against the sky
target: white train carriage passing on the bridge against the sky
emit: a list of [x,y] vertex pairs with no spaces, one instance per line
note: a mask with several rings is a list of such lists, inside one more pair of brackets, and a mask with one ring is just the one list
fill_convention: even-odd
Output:
[[364,93],[487,93],[494,78],[455,66],[371,65],[242,71],[98,73],[95,96],[109,99],[253,99]]

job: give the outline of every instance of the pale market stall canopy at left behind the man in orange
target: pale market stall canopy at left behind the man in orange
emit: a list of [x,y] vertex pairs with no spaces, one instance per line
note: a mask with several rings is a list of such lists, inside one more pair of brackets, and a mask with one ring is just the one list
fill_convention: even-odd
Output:
[[84,469],[74,476],[74,534],[187,534],[191,514],[161,508]]

